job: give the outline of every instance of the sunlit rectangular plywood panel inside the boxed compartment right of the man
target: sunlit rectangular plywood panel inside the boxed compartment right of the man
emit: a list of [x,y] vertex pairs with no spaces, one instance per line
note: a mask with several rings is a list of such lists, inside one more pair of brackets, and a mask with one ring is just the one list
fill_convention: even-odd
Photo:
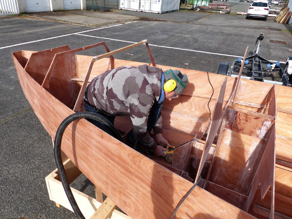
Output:
[[215,152],[216,158],[208,181],[247,195],[263,141],[224,129]]

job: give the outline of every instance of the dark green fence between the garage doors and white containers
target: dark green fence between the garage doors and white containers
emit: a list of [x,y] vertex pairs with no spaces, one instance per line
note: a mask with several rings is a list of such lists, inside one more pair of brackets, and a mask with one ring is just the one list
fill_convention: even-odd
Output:
[[119,0],[86,0],[86,10],[104,10],[119,9]]

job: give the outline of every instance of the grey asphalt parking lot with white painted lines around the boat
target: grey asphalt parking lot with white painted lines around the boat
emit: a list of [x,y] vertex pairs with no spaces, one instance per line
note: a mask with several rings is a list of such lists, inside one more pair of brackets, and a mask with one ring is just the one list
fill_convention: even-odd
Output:
[[[231,1],[227,3],[232,5]],[[247,2],[243,4],[249,6]],[[95,13],[97,16],[105,12]],[[52,139],[23,94],[12,52],[63,45],[75,49],[101,41],[106,42],[109,50],[116,50],[147,39],[156,64],[216,74],[220,62],[232,63],[243,57],[247,47],[249,55],[253,54],[256,38],[263,31],[262,57],[280,61],[283,67],[291,56],[292,27],[274,22],[273,17],[263,21],[246,20],[244,15],[236,14],[193,11],[153,14],[126,10],[112,10],[107,15],[132,18],[91,26],[35,17],[0,17],[0,218],[76,218],[71,211],[57,208],[49,200],[45,177],[56,168]],[[87,19],[99,18],[90,15]],[[82,54],[95,56],[101,52],[93,49]],[[114,57],[150,62],[146,48],[133,48]],[[95,196],[94,186],[85,176],[71,186]]]

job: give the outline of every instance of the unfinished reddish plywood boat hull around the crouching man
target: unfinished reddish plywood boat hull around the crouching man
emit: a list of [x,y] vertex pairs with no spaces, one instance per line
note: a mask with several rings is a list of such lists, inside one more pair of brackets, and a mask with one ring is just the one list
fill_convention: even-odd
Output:
[[[92,59],[75,54],[61,56],[46,87],[42,82],[51,69],[52,57],[69,50],[59,47],[12,53],[23,92],[53,139],[60,123],[74,113],[79,81],[86,77]],[[49,64],[32,68],[38,58],[44,57]],[[92,77],[108,68],[107,59],[97,64],[99,68],[93,65]],[[140,64],[144,63],[115,60],[115,67]],[[131,218],[170,218],[193,186],[190,181],[201,165],[201,170],[207,166],[202,172],[204,179],[174,218],[292,217],[292,90],[247,80],[242,80],[236,90],[236,78],[210,74],[214,87],[210,123],[206,103],[212,88],[207,74],[176,69],[188,75],[189,85],[179,100],[168,101],[162,110],[166,138],[180,145],[172,165],[141,155],[84,119],[65,130],[62,151]],[[131,129],[129,121],[126,117],[115,121],[125,139]],[[203,157],[207,160],[199,166]],[[266,195],[263,200],[258,198],[260,194],[262,198]]]

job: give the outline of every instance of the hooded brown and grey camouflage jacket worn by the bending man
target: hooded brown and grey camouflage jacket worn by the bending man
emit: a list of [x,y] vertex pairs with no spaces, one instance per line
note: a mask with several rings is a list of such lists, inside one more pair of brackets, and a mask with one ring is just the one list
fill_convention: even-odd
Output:
[[[88,89],[88,100],[100,112],[113,116],[130,115],[135,136],[149,150],[156,144],[147,131],[148,116],[161,93],[162,69],[123,66],[108,70],[94,78]],[[154,134],[162,133],[162,116],[153,127]]]

